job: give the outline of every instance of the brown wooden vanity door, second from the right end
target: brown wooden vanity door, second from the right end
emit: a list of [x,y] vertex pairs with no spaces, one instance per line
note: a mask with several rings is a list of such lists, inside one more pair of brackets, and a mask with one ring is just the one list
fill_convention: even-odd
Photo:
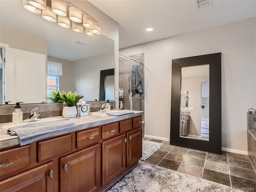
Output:
[[125,134],[102,142],[102,186],[114,181],[125,171]]

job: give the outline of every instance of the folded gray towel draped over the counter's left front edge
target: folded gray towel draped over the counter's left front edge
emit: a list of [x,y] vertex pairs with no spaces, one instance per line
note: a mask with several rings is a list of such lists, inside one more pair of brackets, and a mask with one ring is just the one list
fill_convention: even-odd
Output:
[[69,118],[64,118],[59,120],[22,123],[10,127],[7,132],[10,135],[17,135],[20,146],[23,146],[72,128],[76,128],[76,124]]

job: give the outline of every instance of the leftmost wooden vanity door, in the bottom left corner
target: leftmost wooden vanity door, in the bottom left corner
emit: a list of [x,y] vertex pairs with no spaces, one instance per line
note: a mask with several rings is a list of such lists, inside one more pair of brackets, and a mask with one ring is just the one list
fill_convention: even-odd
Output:
[[[0,182],[1,192],[53,192],[53,162]],[[51,175],[51,176],[50,176]]]

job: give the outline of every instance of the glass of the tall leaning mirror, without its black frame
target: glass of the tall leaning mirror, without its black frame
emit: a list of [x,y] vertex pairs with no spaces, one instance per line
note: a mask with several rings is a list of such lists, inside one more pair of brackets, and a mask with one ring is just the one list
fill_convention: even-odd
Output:
[[209,141],[209,65],[181,68],[180,106],[180,137]]

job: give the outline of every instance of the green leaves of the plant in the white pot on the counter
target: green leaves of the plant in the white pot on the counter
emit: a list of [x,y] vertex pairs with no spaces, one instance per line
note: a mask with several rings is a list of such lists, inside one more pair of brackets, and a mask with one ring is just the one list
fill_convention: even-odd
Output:
[[63,102],[63,104],[66,104],[69,107],[74,106],[80,99],[82,99],[84,96],[77,95],[77,92],[64,92],[60,91],[60,102]]

